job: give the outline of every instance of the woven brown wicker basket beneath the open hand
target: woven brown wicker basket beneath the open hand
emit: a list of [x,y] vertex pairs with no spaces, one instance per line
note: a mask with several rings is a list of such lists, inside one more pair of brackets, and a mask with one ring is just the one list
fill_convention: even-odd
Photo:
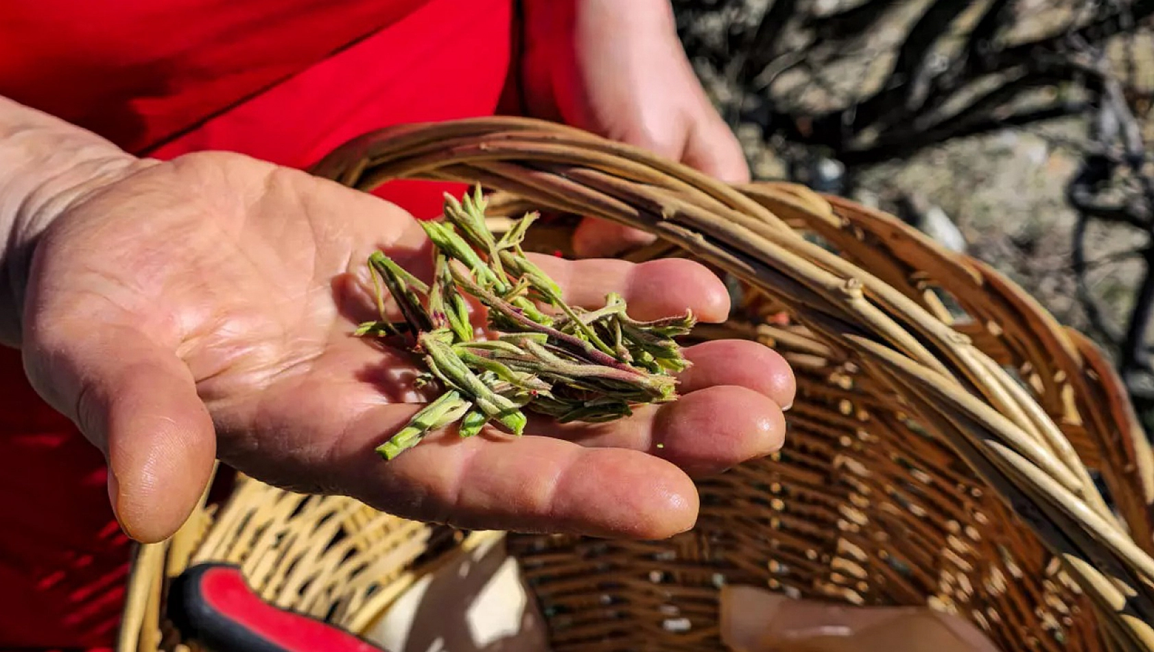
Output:
[[[695,530],[660,542],[509,535],[556,652],[719,650],[721,582],[930,605],[1003,650],[1154,651],[1148,443],[1100,352],[980,262],[846,200],[730,188],[524,119],[390,128],[315,173],[362,190],[481,182],[504,215],[657,233],[625,257],[691,256],[740,282],[730,321],[697,337],[757,339],[793,365],[786,447],[699,482]],[[559,248],[570,227],[534,227],[534,247]],[[241,478],[138,550],[121,650],[181,645],[162,604],[189,561],[241,563],[275,604],[360,631],[479,535]],[[665,627],[670,614],[689,627]]]

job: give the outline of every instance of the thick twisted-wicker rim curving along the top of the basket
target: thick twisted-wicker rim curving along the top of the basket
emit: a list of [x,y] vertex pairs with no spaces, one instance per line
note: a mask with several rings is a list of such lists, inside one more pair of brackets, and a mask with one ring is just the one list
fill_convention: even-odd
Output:
[[[958,278],[1027,317],[1040,346],[1097,376],[1067,381],[1084,400],[1104,402],[1108,414],[1089,411],[1088,418],[1100,429],[1117,426],[1119,455],[1134,466],[1139,500],[1148,507],[1149,442],[1101,351],[992,268],[849,200],[794,183],[728,186],[639,148],[524,118],[389,127],[337,148],[310,172],[364,192],[396,178],[480,182],[507,195],[509,205],[527,201],[643,228],[770,297],[804,306],[807,328],[889,383],[1062,560],[1121,649],[1154,652],[1154,541],[1136,542],[1127,533],[1057,424],[1029,407],[1029,396],[1012,389],[1013,379],[968,337],[870,271],[801,238],[789,220],[829,233],[867,218],[877,228],[905,228],[912,247],[945,260]],[[850,212],[864,217],[854,224]],[[144,579],[135,585],[136,576],[133,595],[152,589]]]

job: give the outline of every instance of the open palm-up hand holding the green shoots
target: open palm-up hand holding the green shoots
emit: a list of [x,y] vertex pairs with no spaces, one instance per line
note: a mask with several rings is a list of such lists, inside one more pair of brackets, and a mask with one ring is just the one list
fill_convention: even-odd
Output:
[[[442,432],[391,462],[374,448],[426,397],[404,351],[352,337],[375,307],[376,249],[428,275],[397,207],[239,155],[141,163],[45,202],[23,301],[33,387],[104,451],[126,532],[172,534],[216,456],[262,481],[345,494],[472,529],[664,538],[697,515],[691,475],[775,450],[789,368],[749,342],[687,351],[683,397],[599,426],[535,421],[520,439]],[[621,292],[638,318],[728,299],[684,260],[535,262],[565,300]],[[734,364],[740,360],[740,364]]]

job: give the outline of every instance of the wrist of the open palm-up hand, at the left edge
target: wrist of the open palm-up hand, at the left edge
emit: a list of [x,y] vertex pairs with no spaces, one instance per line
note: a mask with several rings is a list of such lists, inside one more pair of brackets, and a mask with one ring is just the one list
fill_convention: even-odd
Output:
[[140,164],[90,132],[0,97],[0,343],[20,346],[32,254],[47,227]]

